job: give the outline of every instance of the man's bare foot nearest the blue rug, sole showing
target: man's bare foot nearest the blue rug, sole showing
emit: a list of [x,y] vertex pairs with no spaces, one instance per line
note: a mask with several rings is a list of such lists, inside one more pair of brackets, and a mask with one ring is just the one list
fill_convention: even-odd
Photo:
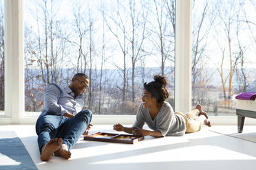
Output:
[[41,160],[50,160],[50,158],[54,154],[54,151],[60,149],[62,143],[62,138],[52,138],[47,144],[43,145]]

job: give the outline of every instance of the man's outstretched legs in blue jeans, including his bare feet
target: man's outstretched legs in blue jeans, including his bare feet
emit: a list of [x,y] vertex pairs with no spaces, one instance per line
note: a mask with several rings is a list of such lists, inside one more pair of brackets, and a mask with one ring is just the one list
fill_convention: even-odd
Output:
[[70,149],[82,134],[91,127],[92,112],[82,110],[72,118],[56,115],[45,115],[36,121],[36,133],[41,160],[50,160],[52,155],[65,159],[71,157]]

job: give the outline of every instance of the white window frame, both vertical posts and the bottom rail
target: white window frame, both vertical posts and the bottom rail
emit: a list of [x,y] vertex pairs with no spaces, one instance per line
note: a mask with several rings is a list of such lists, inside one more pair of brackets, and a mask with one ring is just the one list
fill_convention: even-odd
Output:
[[[34,124],[25,117],[23,0],[5,0],[5,115],[0,124]],[[175,1],[175,110],[191,110],[191,23],[192,0]],[[190,84],[189,86],[185,86]],[[135,115],[94,115],[92,123],[133,124]],[[210,117],[215,125],[235,125],[237,117]],[[256,119],[246,124],[256,125]]]

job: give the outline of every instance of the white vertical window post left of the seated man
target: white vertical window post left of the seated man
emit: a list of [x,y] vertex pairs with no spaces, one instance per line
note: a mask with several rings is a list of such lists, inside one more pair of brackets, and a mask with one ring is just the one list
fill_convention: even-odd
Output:
[[5,114],[19,123],[25,108],[23,0],[5,1]]

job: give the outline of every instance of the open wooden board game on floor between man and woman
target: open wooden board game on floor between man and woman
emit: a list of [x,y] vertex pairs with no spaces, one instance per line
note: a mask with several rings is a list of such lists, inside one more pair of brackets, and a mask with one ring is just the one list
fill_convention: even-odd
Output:
[[128,143],[134,144],[142,141],[144,136],[135,136],[132,134],[114,134],[107,132],[97,132],[95,134],[89,134],[83,137],[86,141],[100,141],[108,143]]

